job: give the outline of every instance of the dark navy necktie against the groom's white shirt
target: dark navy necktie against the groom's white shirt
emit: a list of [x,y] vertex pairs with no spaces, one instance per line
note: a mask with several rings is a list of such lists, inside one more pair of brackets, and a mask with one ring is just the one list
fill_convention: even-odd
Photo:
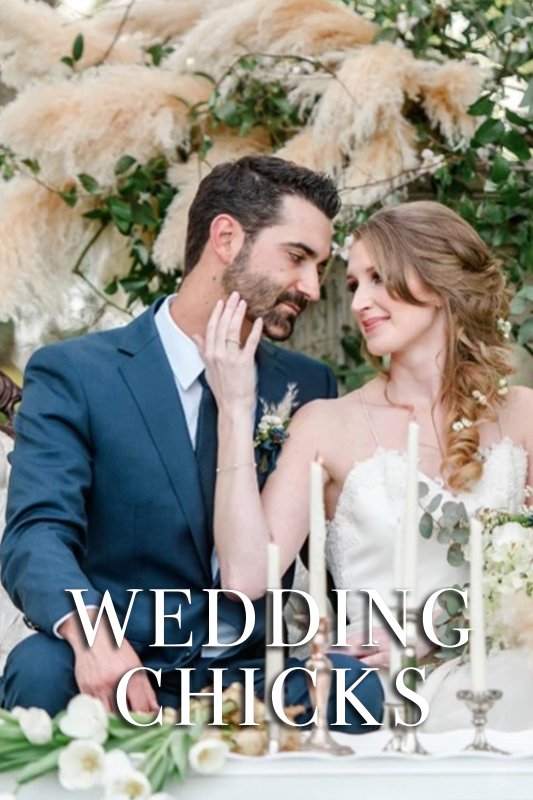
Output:
[[198,412],[195,453],[206,514],[207,533],[212,542],[217,465],[217,404],[207,383],[205,372],[201,373],[198,380],[202,384],[203,391]]

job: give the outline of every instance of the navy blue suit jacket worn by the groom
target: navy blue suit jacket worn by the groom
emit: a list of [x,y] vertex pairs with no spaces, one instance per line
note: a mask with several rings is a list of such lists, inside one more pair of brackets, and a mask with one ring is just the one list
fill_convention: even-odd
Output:
[[[87,605],[109,590],[119,618],[136,597],[126,630],[153,668],[193,665],[207,638],[211,546],[194,451],[170,365],[156,330],[156,303],[126,326],[60,342],[30,360],[16,419],[2,581],[27,618],[51,634],[73,610],[65,589],[86,589]],[[262,343],[258,394],[279,402],[289,383],[301,405],[336,394],[331,370],[299,353]],[[258,404],[260,406],[260,404]],[[261,409],[258,408],[258,414]],[[305,498],[302,498],[305,502]],[[251,523],[253,524],[253,523]],[[165,623],[165,640],[192,647],[148,647],[154,641],[149,589],[190,589],[181,629]],[[264,601],[239,657],[259,653]],[[220,616],[239,625],[241,604],[220,602]],[[255,648],[255,649],[254,649]]]

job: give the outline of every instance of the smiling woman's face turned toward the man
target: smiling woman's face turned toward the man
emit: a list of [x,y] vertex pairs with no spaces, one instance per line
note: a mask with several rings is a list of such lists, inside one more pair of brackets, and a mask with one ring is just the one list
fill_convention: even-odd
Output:
[[350,250],[346,281],[353,292],[352,314],[372,355],[392,355],[427,342],[430,335],[442,336],[438,296],[426,290],[413,273],[407,277],[409,289],[427,305],[415,306],[391,297],[362,240]]

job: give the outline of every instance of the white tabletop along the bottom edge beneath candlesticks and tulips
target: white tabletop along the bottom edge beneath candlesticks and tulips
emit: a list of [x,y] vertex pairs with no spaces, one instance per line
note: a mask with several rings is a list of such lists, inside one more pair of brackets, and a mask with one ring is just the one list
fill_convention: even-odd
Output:
[[[533,730],[489,732],[491,744],[510,751],[507,756],[462,752],[472,740],[471,731],[420,734],[429,756],[383,753],[390,738],[384,731],[336,738],[357,753],[230,756],[221,773],[191,774],[184,784],[171,784],[166,791],[186,800],[323,800],[325,795],[329,800],[340,792],[365,800],[533,800]],[[13,778],[0,775],[0,792],[12,789]],[[103,792],[67,792],[55,775],[48,775],[23,787],[18,797],[101,800]]]

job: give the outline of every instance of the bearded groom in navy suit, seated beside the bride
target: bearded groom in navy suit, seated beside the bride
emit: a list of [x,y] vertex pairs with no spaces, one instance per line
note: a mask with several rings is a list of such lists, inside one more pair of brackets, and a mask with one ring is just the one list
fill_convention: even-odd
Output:
[[[162,670],[161,687],[140,670],[127,699],[131,710],[156,710],[159,701],[176,705],[176,668],[193,668],[198,691],[210,683],[209,667],[227,668],[225,683],[239,679],[238,667],[262,667],[264,600],[254,604],[254,631],[242,645],[202,646],[203,590],[218,585],[216,410],[191,337],[204,333],[217,300],[236,290],[247,301],[249,321],[261,316],[270,339],[288,338],[306,304],[319,299],[338,207],[330,179],[308,169],[261,156],[221,164],[204,178],[189,211],[179,293],[125,328],[45,347],[31,359],[0,556],[2,581],[37,633],[8,658],[5,707],[55,713],[82,691],[111,710],[120,678],[145,666]],[[331,371],[301,354],[263,343],[256,366],[257,397],[267,403],[279,402],[290,383],[297,384],[299,404],[335,395]],[[261,409],[258,402],[256,424]],[[84,590],[93,621],[108,590],[122,624],[133,588],[142,591],[121,646],[101,624],[88,647],[65,590]],[[154,646],[153,589],[168,590],[165,646]],[[190,601],[177,589],[189,590]],[[220,596],[220,640],[238,638],[242,611]],[[351,685],[361,665],[336,658],[349,667]],[[291,677],[288,702],[309,707],[303,677]],[[379,719],[374,674],[356,694]],[[369,730],[352,707],[347,721],[352,732]]]

